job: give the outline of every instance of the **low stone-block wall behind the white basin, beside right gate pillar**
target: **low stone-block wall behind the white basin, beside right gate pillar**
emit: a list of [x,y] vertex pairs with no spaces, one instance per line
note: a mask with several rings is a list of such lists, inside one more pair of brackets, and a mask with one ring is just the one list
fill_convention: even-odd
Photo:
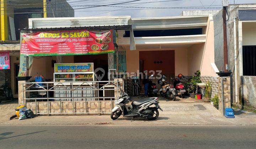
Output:
[[212,95],[211,98],[214,97],[214,95],[218,94],[218,77],[212,77],[212,76],[201,76],[200,77],[202,83],[211,82],[212,83]]

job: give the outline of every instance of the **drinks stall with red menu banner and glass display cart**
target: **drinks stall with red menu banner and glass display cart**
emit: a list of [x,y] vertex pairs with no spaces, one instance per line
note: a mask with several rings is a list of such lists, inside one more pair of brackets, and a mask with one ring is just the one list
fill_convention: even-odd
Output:
[[[23,59],[20,61],[18,79],[26,78],[29,82],[40,82],[30,87],[36,90],[29,94],[30,98],[44,99],[47,96],[50,101],[60,101],[62,98],[62,101],[90,101],[95,100],[95,96],[114,96],[113,90],[96,92],[94,88],[114,88],[110,82],[99,84],[97,81],[108,81],[108,54],[118,49],[116,31],[130,29],[130,26],[90,29],[93,31],[85,27],[21,31],[20,57]],[[54,88],[58,91],[46,92],[45,84],[48,89]],[[68,88],[75,88],[77,91],[71,93]],[[75,98],[68,98],[71,96]]]

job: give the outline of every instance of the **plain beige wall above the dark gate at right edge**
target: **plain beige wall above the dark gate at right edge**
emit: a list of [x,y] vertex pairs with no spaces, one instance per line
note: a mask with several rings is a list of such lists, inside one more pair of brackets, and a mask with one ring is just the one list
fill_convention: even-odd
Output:
[[256,22],[242,23],[242,44],[256,45]]

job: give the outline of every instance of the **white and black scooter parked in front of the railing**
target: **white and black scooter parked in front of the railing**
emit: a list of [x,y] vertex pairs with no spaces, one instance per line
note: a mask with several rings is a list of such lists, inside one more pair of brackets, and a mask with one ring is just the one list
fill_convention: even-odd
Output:
[[[159,111],[163,111],[159,106],[157,97],[145,98],[132,101],[127,93],[121,90],[122,95],[114,101],[115,107],[112,110],[111,118],[116,120],[119,116],[124,117],[143,117],[148,120],[156,120],[159,116]],[[149,107],[155,105],[155,107]]]

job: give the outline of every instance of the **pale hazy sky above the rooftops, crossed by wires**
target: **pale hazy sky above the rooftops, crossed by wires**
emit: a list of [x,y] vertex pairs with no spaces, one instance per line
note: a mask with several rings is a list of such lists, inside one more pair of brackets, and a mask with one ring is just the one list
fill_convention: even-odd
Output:
[[[166,17],[179,16],[185,10],[220,10],[222,7],[221,0],[67,0],[75,10],[75,17],[87,16],[132,16],[132,17]],[[119,4],[112,6],[122,7],[94,7],[86,9],[78,9],[90,7],[87,5],[109,5],[121,2],[129,2],[131,4]],[[234,0],[229,0],[230,4],[234,4]],[[256,0],[235,0],[235,4],[256,3]],[[161,9],[148,8],[126,8],[126,7],[161,7]],[[163,9],[162,7],[200,7],[200,8],[178,8]],[[217,8],[213,8],[217,7]]]

